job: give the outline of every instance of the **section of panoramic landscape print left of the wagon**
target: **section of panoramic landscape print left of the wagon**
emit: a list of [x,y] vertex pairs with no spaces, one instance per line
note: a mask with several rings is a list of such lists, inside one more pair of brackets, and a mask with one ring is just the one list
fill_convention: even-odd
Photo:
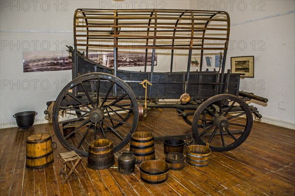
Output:
[[68,51],[24,51],[24,72],[71,70]]

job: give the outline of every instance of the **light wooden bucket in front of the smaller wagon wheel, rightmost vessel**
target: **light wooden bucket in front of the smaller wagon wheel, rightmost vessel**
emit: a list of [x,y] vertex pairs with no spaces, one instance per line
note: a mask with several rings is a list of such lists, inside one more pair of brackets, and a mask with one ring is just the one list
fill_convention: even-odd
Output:
[[211,149],[209,143],[204,145],[190,145],[186,151],[187,163],[192,166],[204,167],[210,162]]

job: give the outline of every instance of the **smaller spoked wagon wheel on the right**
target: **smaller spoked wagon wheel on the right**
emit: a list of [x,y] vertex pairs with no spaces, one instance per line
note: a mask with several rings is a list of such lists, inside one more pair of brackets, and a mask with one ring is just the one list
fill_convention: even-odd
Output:
[[213,151],[229,151],[250,134],[253,117],[250,107],[230,94],[215,95],[195,112],[193,134],[199,144],[208,142]]

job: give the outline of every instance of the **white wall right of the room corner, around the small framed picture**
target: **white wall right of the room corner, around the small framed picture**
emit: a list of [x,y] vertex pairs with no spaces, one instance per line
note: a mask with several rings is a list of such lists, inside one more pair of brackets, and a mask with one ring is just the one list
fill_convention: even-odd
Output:
[[[295,1],[190,0],[190,8],[229,12],[227,68],[232,56],[254,56],[254,78],[242,79],[241,90],[268,99],[267,104],[250,104],[264,122],[295,129]],[[281,13],[286,14],[276,16]]]

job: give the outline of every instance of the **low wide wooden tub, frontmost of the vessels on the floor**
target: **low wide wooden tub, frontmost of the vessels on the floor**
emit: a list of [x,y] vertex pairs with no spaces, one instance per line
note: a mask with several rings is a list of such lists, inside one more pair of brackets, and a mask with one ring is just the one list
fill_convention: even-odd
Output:
[[149,184],[160,184],[169,176],[169,164],[164,161],[148,160],[140,164],[140,177]]

